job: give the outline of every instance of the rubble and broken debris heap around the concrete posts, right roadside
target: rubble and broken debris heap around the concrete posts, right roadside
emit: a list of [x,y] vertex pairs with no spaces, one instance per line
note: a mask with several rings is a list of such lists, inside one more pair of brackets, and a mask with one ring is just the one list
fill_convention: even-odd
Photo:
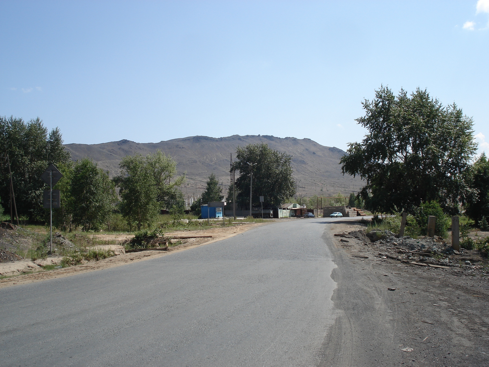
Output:
[[369,250],[378,259],[392,259],[420,266],[454,267],[482,274],[485,274],[485,270],[489,271],[477,264],[483,264],[480,258],[467,257],[471,252],[464,249],[460,249],[460,252],[453,250],[451,244],[439,236],[419,236],[417,239],[409,236],[397,237],[390,230],[380,229],[370,232],[360,229],[334,235],[342,237],[342,242],[349,242],[343,238],[359,240],[362,245],[369,246]]

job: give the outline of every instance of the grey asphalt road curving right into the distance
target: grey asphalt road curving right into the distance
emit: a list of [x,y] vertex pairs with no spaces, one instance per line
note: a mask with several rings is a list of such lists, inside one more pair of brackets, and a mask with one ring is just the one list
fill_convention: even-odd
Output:
[[273,223],[152,260],[0,289],[0,365],[321,365],[339,315],[325,235],[335,220]]

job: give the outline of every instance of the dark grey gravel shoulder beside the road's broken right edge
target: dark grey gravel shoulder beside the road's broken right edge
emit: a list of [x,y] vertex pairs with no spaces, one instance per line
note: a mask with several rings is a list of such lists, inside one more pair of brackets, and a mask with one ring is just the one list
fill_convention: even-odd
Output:
[[375,243],[333,236],[360,223],[327,226],[338,317],[321,366],[489,366],[489,276],[381,258]]

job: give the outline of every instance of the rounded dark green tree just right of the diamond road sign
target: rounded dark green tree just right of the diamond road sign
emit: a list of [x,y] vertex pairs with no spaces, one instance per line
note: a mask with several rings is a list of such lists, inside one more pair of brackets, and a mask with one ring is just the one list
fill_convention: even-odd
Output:
[[73,167],[70,196],[73,223],[85,231],[100,229],[117,201],[109,175],[88,158],[77,161]]

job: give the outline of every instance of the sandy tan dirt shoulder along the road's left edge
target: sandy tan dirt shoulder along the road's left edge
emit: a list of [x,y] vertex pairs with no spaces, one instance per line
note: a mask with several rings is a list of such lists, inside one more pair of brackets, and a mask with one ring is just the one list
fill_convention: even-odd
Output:
[[[108,269],[116,266],[121,266],[129,264],[136,261],[147,260],[151,258],[166,256],[173,252],[190,250],[199,246],[208,245],[223,239],[235,236],[237,234],[243,233],[246,230],[253,229],[259,226],[268,225],[273,222],[267,223],[253,223],[253,224],[243,224],[234,227],[227,228],[212,228],[212,229],[202,229],[194,231],[178,231],[172,232],[171,235],[211,235],[212,238],[190,238],[184,241],[184,243],[170,247],[168,251],[143,251],[143,252],[132,252],[125,253],[122,255],[112,256],[107,259],[99,261],[90,261],[85,264],[75,265],[68,268],[57,269],[57,270],[46,270],[40,271],[32,274],[17,275],[8,278],[0,279],[0,288],[10,287],[13,285],[33,283],[37,281],[42,281],[51,278],[60,278],[70,275],[76,275],[86,272],[91,272],[95,270]],[[103,236],[103,235],[99,235]],[[121,238],[121,240],[126,238]]]

